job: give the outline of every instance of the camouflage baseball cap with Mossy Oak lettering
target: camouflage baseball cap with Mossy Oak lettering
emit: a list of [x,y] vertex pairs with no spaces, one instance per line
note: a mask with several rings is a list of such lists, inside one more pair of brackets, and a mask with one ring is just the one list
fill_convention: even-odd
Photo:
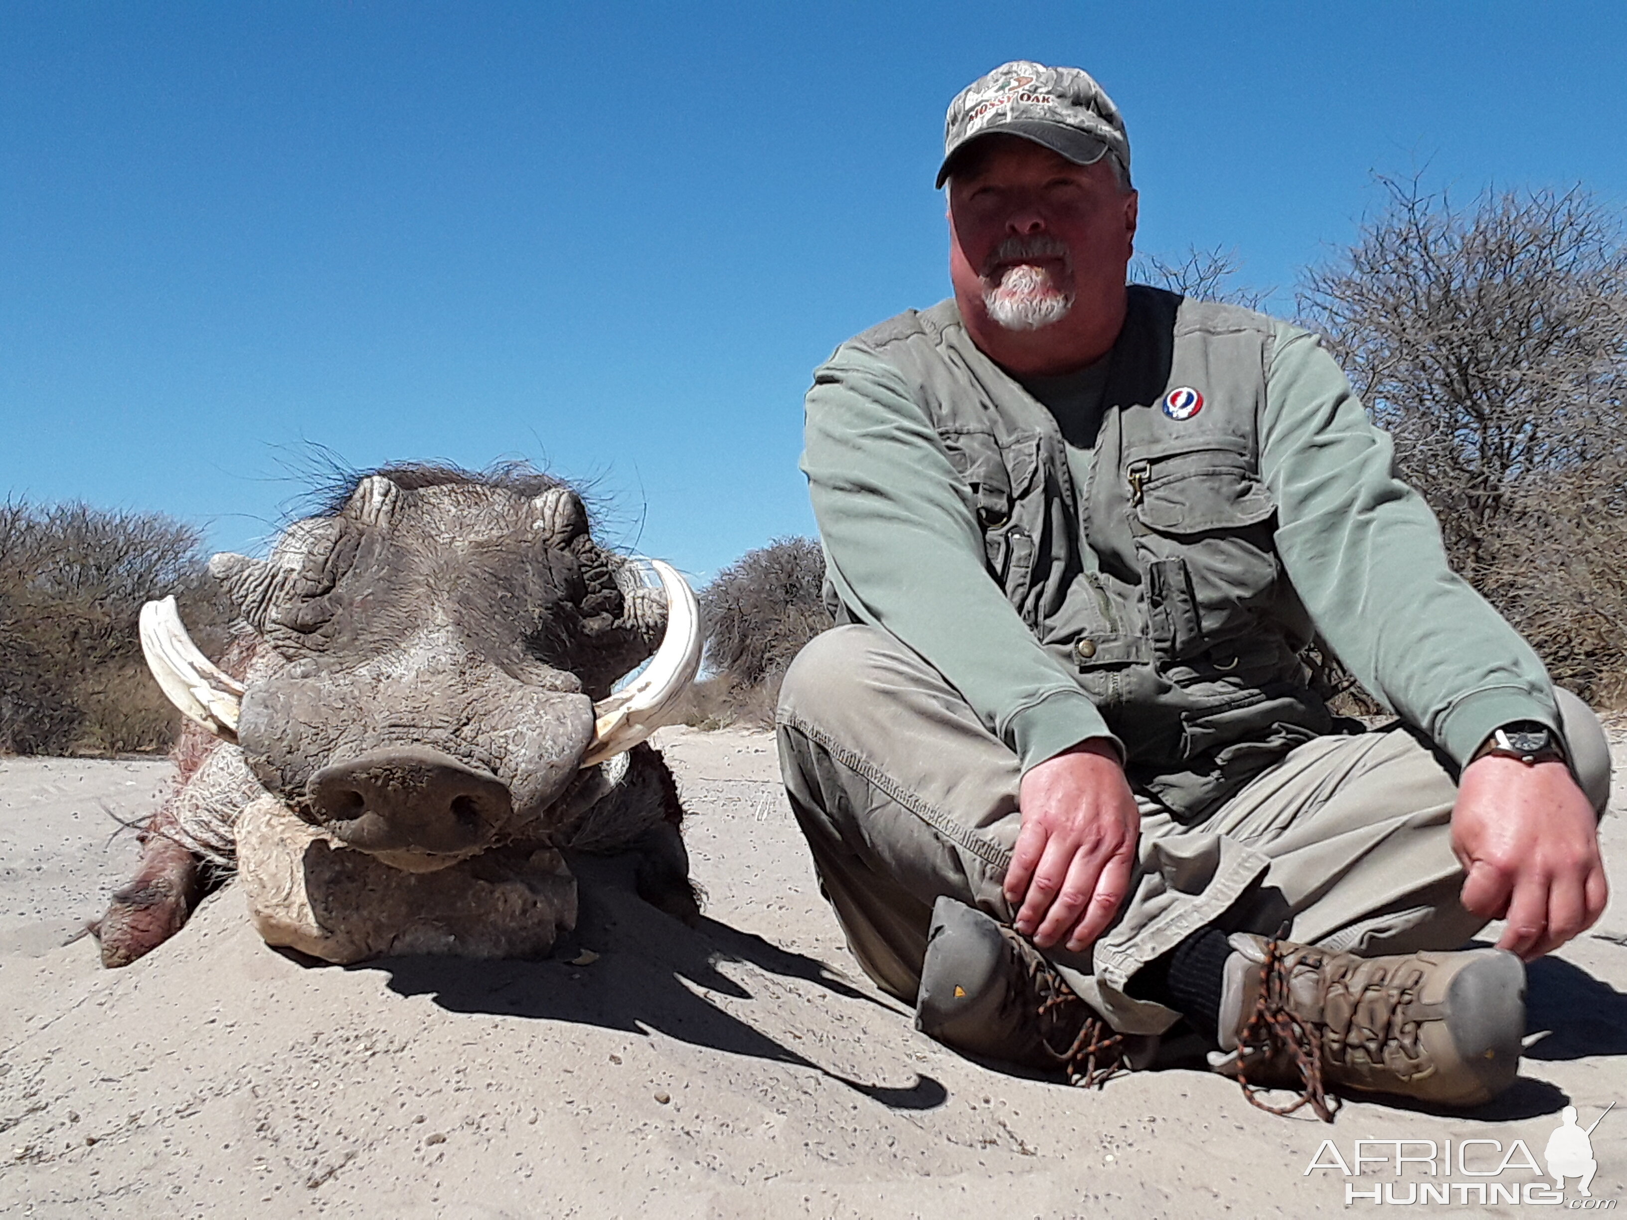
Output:
[[1019,135],[1080,166],[1111,153],[1129,177],[1124,119],[1101,86],[1079,68],[1048,68],[1019,59],[962,89],[944,119],[939,185],[949,179],[955,156],[984,135]]

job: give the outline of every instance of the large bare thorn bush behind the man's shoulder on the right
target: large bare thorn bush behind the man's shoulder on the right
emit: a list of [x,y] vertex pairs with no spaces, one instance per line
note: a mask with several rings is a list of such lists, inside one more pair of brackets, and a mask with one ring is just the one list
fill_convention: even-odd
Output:
[[1627,246],[1580,187],[1385,205],[1298,306],[1396,438],[1453,564],[1585,698],[1627,657]]

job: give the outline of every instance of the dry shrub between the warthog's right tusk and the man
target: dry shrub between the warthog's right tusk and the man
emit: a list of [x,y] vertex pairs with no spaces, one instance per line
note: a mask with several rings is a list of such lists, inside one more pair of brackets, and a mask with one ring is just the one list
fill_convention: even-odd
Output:
[[713,673],[690,690],[687,724],[774,722],[786,669],[831,626],[823,584],[825,556],[814,538],[776,538],[718,573],[701,590]]

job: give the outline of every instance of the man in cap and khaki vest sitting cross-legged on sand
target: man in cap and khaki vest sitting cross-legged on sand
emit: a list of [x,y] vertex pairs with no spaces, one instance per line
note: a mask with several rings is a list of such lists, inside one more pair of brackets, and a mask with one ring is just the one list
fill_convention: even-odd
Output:
[[[854,956],[939,1041],[1075,1082],[1184,1020],[1324,1118],[1489,1100],[1521,958],[1604,909],[1598,721],[1450,571],[1315,335],[1126,288],[1088,75],[996,68],[944,151],[953,298],[807,397],[841,626],[779,755]],[[1333,717],[1313,639],[1401,724]]]

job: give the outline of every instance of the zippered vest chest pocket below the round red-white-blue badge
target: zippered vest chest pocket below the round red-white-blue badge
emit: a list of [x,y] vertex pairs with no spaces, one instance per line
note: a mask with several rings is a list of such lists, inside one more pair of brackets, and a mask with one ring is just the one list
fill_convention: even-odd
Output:
[[1162,656],[1188,659],[1256,630],[1280,574],[1276,504],[1228,449],[1124,467],[1147,617]]

